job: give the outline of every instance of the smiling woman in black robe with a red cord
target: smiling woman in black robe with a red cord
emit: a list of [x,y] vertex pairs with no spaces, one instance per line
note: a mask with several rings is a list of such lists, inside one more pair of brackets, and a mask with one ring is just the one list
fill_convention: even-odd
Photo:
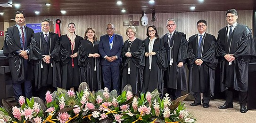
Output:
[[[69,23],[68,33],[60,37],[60,59],[62,88],[78,88],[81,83],[79,66],[77,64],[77,51],[79,41],[83,38],[75,35],[75,24]],[[74,87],[74,88],[73,88]]]

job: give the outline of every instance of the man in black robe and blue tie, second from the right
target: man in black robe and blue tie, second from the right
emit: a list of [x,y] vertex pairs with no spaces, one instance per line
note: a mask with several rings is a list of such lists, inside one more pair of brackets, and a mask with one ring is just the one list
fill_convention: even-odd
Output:
[[206,33],[206,20],[197,22],[198,34],[189,38],[189,82],[195,101],[190,106],[201,105],[200,93],[203,93],[203,107],[208,108],[210,98],[214,96],[215,85],[215,36]]

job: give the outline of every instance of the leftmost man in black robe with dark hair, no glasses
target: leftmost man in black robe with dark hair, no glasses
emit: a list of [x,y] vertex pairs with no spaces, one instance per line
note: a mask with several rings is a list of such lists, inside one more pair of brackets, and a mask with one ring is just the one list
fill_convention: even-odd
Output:
[[28,55],[34,31],[24,25],[25,13],[23,11],[15,13],[15,21],[14,26],[7,28],[3,49],[4,54],[8,55],[15,100],[18,101],[19,97],[23,95],[22,83],[24,83],[25,97],[32,97],[33,69],[32,64],[28,62]]

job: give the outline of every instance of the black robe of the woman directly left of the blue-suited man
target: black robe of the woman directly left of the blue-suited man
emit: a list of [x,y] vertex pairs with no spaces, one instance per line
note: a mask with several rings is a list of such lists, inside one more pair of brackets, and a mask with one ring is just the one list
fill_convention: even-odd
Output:
[[81,69],[82,81],[89,85],[91,91],[101,89],[102,83],[100,57],[88,57],[89,54],[99,54],[98,48],[99,40],[94,41],[92,44],[87,39],[80,40],[78,48],[78,65]]

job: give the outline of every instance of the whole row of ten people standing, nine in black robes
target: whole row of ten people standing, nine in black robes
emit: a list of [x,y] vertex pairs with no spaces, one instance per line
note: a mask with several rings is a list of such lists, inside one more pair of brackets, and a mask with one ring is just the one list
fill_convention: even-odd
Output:
[[91,27],[86,29],[84,38],[76,35],[74,23],[68,24],[66,35],[58,37],[50,32],[50,20],[43,20],[42,31],[33,34],[24,26],[24,12],[15,15],[17,24],[7,29],[4,54],[9,58],[16,100],[22,95],[21,83],[25,84],[26,97],[32,96],[34,88],[36,96],[44,100],[47,90],[77,90],[82,82],[87,82],[91,91],[105,86],[120,93],[131,85],[132,92],[139,95],[157,89],[160,97],[166,88],[175,100],[187,91],[188,78],[189,91],[195,98],[190,105],[201,105],[202,93],[203,107],[208,108],[219,62],[226,102],[218,108],[233,108],[235,90],[239,92],[240,112],[247,112],[248,62],[256,56],[256,48],[251,30],[236,22],[235,9],[226,12],[228,25],[219,31],[217,39],[206,32],[205,20],[197,22],[198,33],[187,40],[183,32],[175,30],[175,20],[168,19],[168,33],[162,38],[154,25],[148,26],[144,40],[136,38],[135,27],[129,26],[129,39],[124,42],[112,23],[107,24],[107,34],[100,40]]

